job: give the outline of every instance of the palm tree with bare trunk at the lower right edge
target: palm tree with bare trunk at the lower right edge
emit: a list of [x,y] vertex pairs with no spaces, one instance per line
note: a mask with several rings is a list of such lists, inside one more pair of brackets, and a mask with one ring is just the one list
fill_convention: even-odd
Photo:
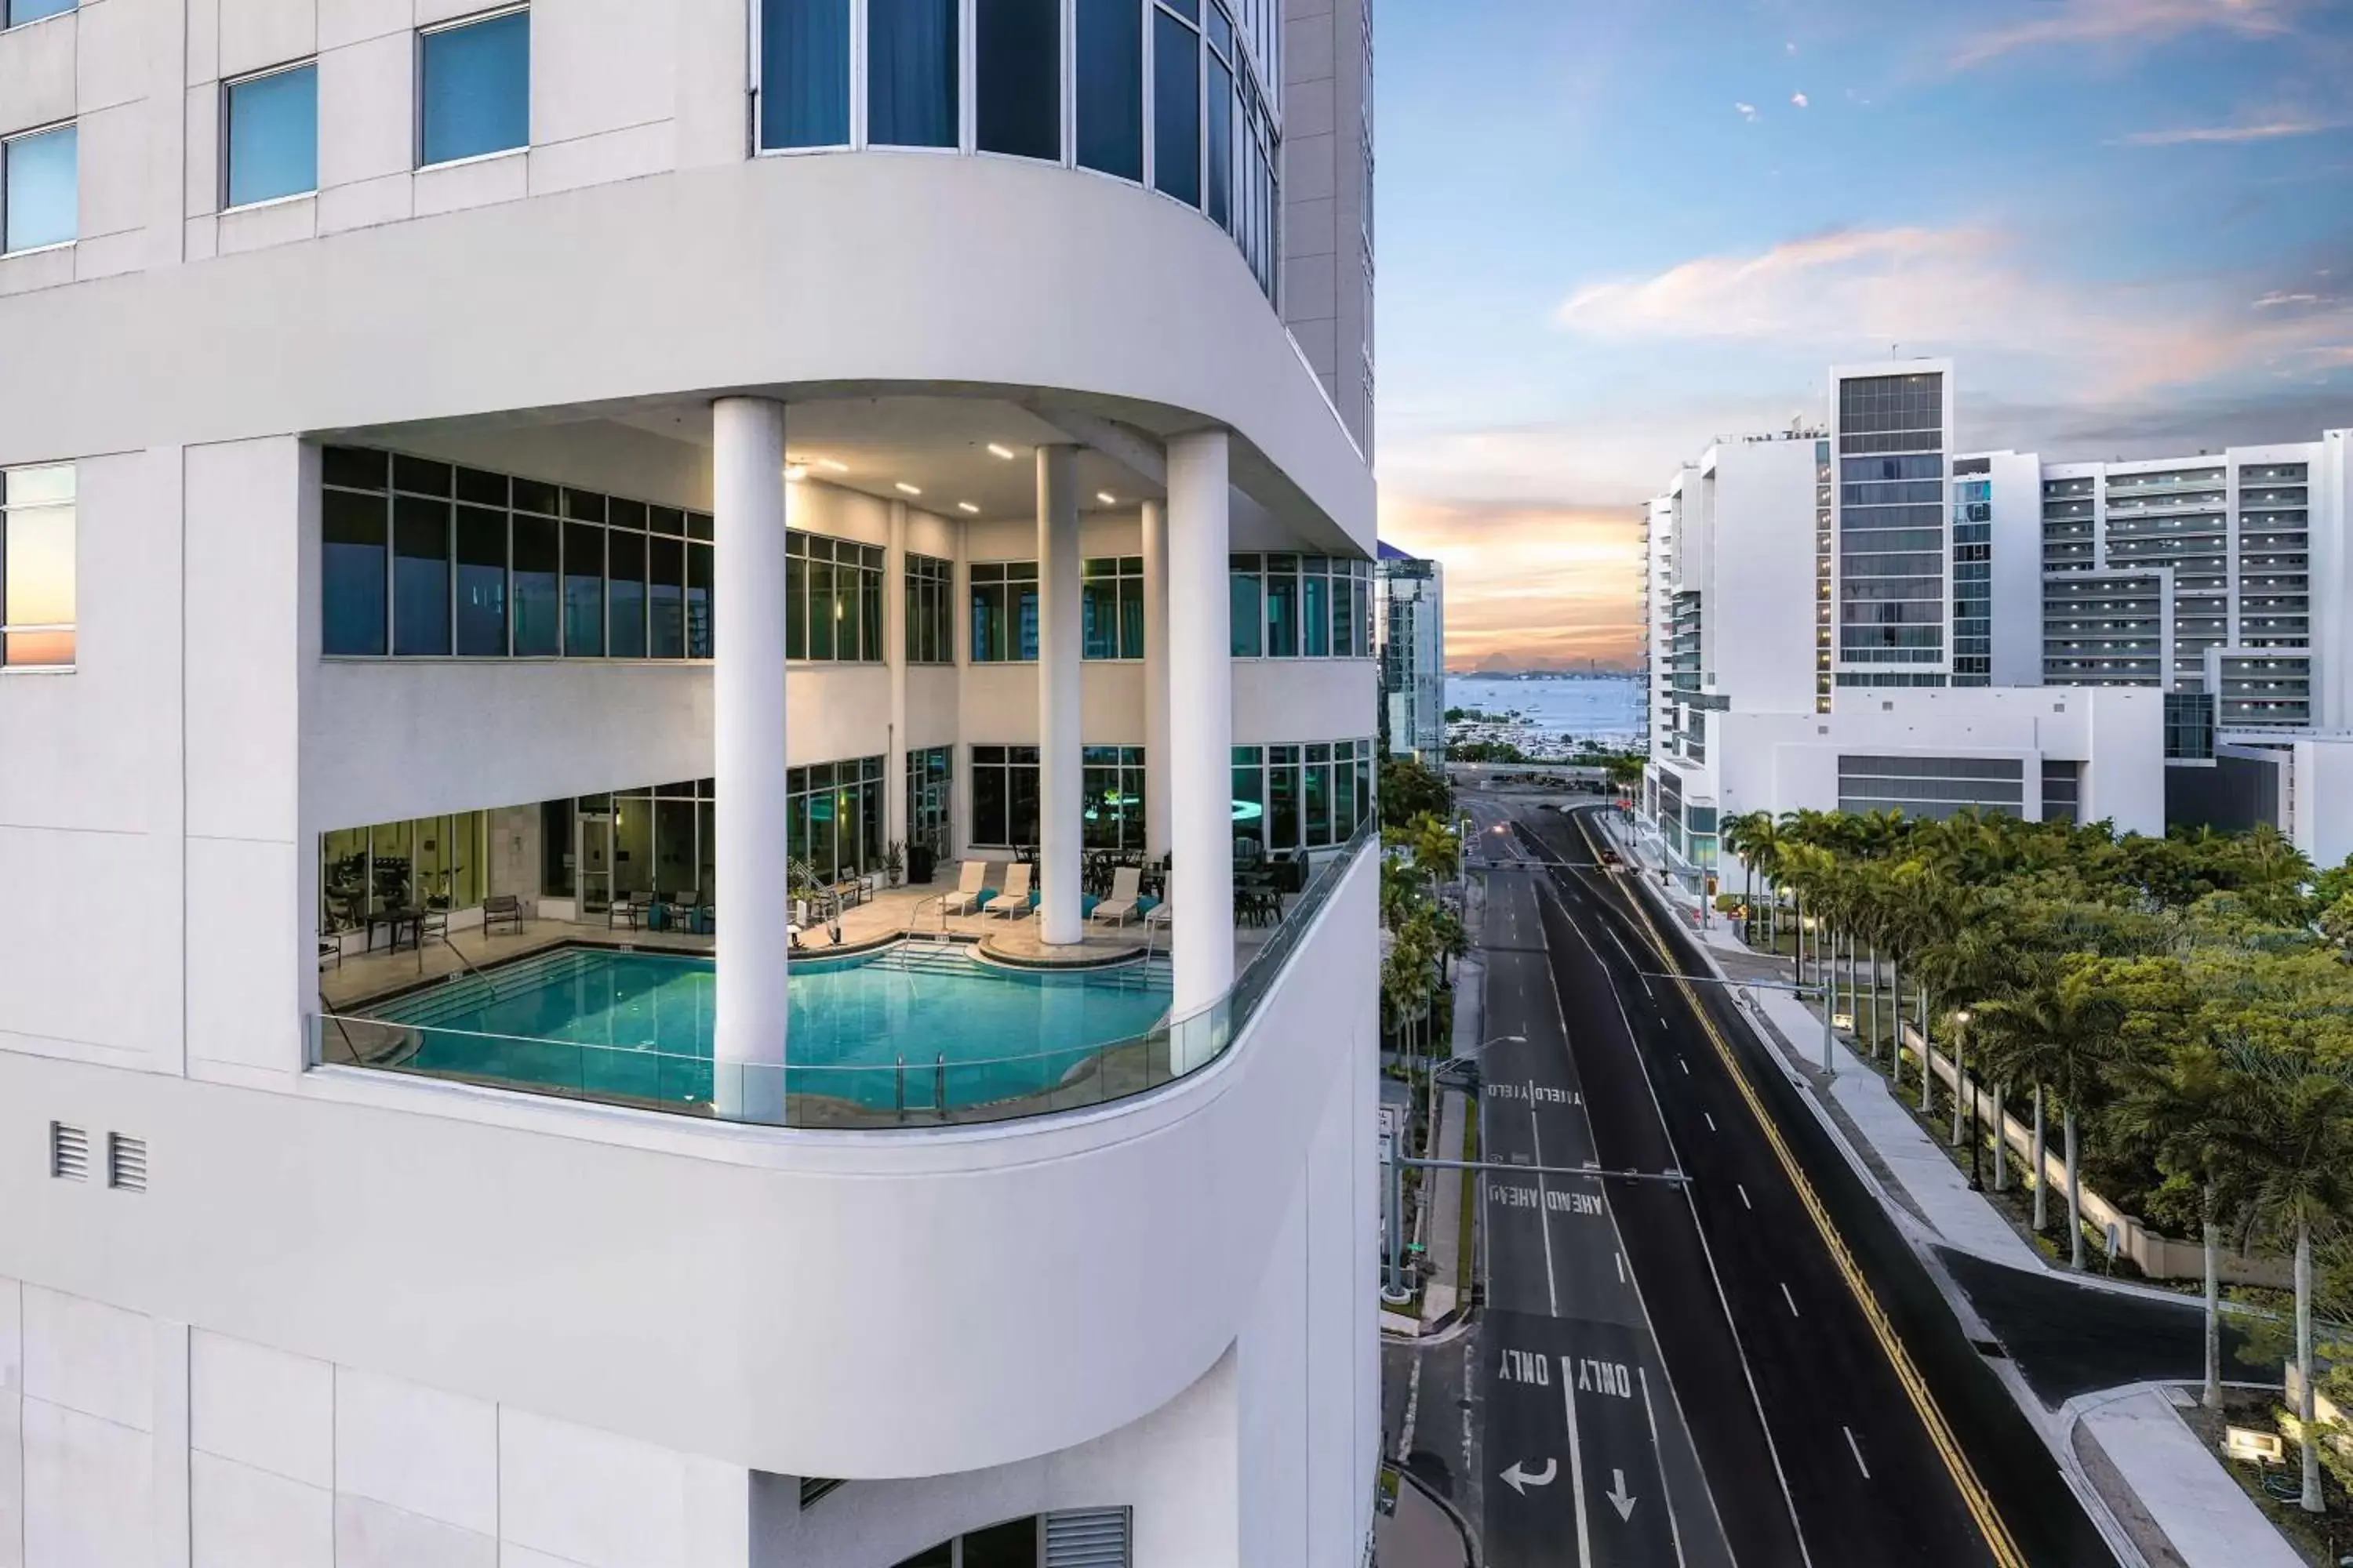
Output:
[[2313,1425],[2313,1232],[2353,1215],[2353,1067],[2297,1051],[2228,1046],[2242,1072],[2245,1114],[2231,1145],[2247,1166],[2259,1222],[2297,1239],[2297,1422],[2304,1441],[2304,1512],[2322,1512],[2320,1434]]

